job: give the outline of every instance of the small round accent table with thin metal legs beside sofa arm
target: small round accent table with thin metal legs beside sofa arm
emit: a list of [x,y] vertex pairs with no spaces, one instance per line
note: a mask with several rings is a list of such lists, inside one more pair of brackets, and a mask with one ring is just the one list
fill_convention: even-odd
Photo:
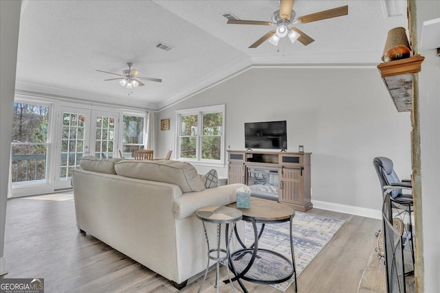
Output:
[[[206,266],[205,277],[203,277],[203,281],[200,284],[199,292],[203,287],[203,283],[205,283],[206,276],[208,275],[209,270],[209,261],[212,259],[213,261],[217,261],[217,274],[215,278],[215,288],[216,292],[219,292],[219,263],[220,261],[226,262],[226,270],[228,271],[228,279],[229,283],[232,286],[232,291],[235,292],[234,285],[232,285],[231,277],[229,274],[229,243],[232,238],[232,233],[234,231],[235,223],[241,220],[243,214],[238,209],[234,209],[231,207],[203,207],[196,211],[195,213],[197,218],[201,220],[203,224],[203,231],[205,231],[206,244],[208,244],[208,265]],[[205,222],[210,222],[217,224],[217,246],[215,248],[210,249],[208,233],[206,232]],[[220,248],[220,239],[221,239],[221,224],[231,224],[231,230],[226,239],[226,249]]]

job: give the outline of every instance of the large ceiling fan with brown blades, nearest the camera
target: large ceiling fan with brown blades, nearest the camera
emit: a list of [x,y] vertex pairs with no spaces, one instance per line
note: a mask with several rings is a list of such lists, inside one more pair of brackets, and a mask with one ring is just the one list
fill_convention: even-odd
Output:
[[255,43],[250,45],[250,48],[259,47],[265,40],[269,39],[269,42],[273,45],[278,45],[281,38],[288,36],[292,43],[295,40],[299,40],[303,45],[307,46],[314,42],[314,39],[298,30],[296,27],[288,27],[295,23],[311,23],[312,21],[321,21],[322,19],[331,19],[333,17],[343,16],[349,14],[349,5],[333,8],[329,10],[323,10],[320,12],[307,14],[304,16],[296,17],[294,7],[294,0],[279,0],[280,9],[274,12],[272,21],[241,21],[229,19],[228,24],[232,25],[276,25],[276,30],[267,32],[264,36],[256,40]]

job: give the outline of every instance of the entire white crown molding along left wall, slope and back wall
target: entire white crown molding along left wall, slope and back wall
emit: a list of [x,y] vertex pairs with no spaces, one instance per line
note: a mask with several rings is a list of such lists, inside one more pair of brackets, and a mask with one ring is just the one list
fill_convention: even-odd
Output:
[[[325,60],[322,54],[246,55],[213,71],[201,80],[192,82],[184,88],[167,95],[158,102],[145,102],[135,97],[108,95],[22,78],[16,80],[16,93],[33,97],[48,97],[67,102],[98,102],[122,108],[133,107],[159,112],[250,69],[377,69],[380,60],[377,60],[379,58],[376,55],[377,51],[373,50],[360,51],[357,54],[349,54],[348,51],[331,51],[325,56]],[[360,56],[362,56],[362,62],[359,62]]]

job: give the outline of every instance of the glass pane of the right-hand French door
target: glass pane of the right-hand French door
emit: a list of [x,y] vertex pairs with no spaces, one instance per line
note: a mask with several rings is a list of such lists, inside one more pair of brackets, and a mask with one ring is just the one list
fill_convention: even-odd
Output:
[[[97,158],[113,158],[114,121],[115,117],[96,117],[95,156]],[[109,132],[112,133],[111,136]]]

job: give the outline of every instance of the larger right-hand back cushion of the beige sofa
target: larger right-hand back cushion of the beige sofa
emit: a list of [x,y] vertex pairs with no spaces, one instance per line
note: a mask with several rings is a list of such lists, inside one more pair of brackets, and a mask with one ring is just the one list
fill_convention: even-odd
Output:
[[124,160],[115,170],[120,176],[175,184],[183,193],[205,189],[195,167],[186,162]]

